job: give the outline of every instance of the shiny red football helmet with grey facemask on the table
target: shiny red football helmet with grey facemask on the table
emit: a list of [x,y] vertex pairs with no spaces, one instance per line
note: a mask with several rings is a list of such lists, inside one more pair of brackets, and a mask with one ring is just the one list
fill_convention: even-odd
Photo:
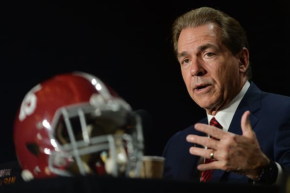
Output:
[[34,86],[14,123],[22,177],[139,175],[141,118],[97,77],[73,72]]

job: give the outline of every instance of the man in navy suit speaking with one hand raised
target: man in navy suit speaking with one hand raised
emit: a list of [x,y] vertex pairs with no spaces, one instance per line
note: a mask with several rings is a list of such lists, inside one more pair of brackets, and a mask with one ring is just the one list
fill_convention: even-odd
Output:
[[[164,178],[199,181],[212,171],[206,182],[279,184],[290,169],[290,97],[251,81],[242,26],[201,7],[177,18],[172,32],[187,91],[207,117],[169,139]],[[222,129],[208,125],[212,117]]]

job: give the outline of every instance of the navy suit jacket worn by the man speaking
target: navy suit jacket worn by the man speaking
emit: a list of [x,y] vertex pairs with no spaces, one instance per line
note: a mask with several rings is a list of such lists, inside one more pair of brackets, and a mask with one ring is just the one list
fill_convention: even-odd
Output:
[[[290,97],[261,91],[250,82],[248,91],[240,102],[228,132],[242,134],[241,117],[249,110],[250,123],[263,152],[290,170]],[[206,123],[207,117],[199,123]],[[193,145],[186,141],[188,134],[205,135],[193,128],[194,125],[178,131],[167,142],[163,151],[166,158],[164,179],[199,181],[200,172],[196,169],[200,156],[189,153]],[[211,182],[249,183],[250,180],[234,172],[214,170]]]

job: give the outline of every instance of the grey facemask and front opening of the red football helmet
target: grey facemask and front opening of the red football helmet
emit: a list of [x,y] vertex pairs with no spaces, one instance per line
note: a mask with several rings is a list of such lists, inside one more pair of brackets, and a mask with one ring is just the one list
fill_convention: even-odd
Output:
[[49,170],[62,176],[138,176],[143,155],[141,119],[122,102],[111,99],[106,105],[94,101],[58,109],[50,132],[55,149],[50,151]]

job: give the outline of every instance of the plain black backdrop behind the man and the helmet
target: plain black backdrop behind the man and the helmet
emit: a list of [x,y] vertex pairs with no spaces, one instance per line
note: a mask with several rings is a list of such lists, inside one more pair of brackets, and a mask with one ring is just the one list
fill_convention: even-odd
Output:
[[95,74],[134,110],[145,109],[145,153],[161,155],[168,138],[206,115],[189,97],[170,43],[174,19],[199,6],[235,17],[249,36],[253,81],[290,96],[287,0],[93,1],[0,3],[0,162],[16,159],[13,121],[30,88],[62,72]]

